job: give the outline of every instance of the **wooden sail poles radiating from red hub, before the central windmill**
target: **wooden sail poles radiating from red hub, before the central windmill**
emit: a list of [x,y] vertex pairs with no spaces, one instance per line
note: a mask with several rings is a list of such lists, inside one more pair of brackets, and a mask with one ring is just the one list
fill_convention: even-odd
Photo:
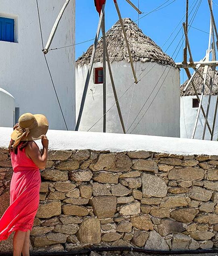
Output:
[[[43,49],[44,54],[48,53],[51,42],[52,42],[52,40],[55,36],[55,32],[57,30],[59,21],[61,20],[61,17],[63,15],[64,11],[65,11],[65,8],[67,8],[67,5],[69,4],[69,1],[70,0],[66,0],[63,7],[61,8],[61,11],[60,11],[60,13],[59,13],[54,25],[53,25],[52,30],[51,30],[50,36],[48,38],[48,42],[46,43],[46,46]],[[134,76],[134,81],[137,84],[138,80],[137,80],[137,77],[136,77],[136,72],[135,72],[135,68],[134,68],[134,65],[133,65],[130,46],[129,46],[128,39],[127,39],[127,36],[126,36],[122,16],[121,16],[121,13],[120,13],[120,10],[119,10],[117,0],[113,0],[113,2],[114,2],[114,5],[115,5],[115,9],[117,11],[117,15],[119,17],[120,25],[122,27],[122,31],[123,31],[123,34],[124,34],[126,46],[128,48],[128,55],[129,55],[129,58],[130,58],[130,65],[131,65],[131,68],[132,68],[132,74]],[[142,13],[130,0],[126,0],[126,2],[128,2],[128,4],[130,4],[130,6],[132,6],[139,14]],[[82,112],[83,112],[84,104],[85,104],[85,100],[86,100],[86,94],[87,94],[87,90],[88,90],[88,85],[89,85],[89,81],[90,81],[90,75],[91,75],[91,71],[92,71],[92,67],[93,67],[93,63],[94,63],[96,47],[97,47],[98,40],[99,40],[99,34],[100,34],[100,31],[102,31],[102,36],[103,36],[103,132],[106,132],[106,61],[107,61],[107,65],[108,65],[108,69],[109,69],[109,75],[110,75],[110,79],[111,79],[111,85],[112,85],[112,88],[113,88],[113,94],[114,94],[114,98],[115,98],[115,102],[116,102],[116,106],[117,106],[117,111],[118,111],[118,114],[119,114],[119,120],[121,122],[123,132],[126,133],[126,129],[125,129],[124,121],[123,121],[123,117],[122,117],[122,112],[120,110],[119,101],[118,101],[118,98],[117,98],[117,93],[116,93],[115,84],[114,84],[114,80],[113,80],[113,74],[112,74],[112,71],[111,71],[111,65],[110,65],[110,61],[109,61],[109,55],[108,55],[108,51],[107,51],[107,44],[106,44],[106,40],[105,40],[105,5],[106,5],[106,0],[94,0],[94,5],[96,7],[96,11],[99,13],[99,23],[98,23],[98,27],[97,27],[95,40],[94,40],[94,47],[93,47],[92,56],[91,56],[91,59],[90,59],[89,68],[88,68],[88,72],[87,72],[87,76],[86,76],[86,82],[85,82],[85,85],[84,85],[84,91],[83,91],[83,95],[82,95],[82,101],[81,101],[81,105],[80,105],[78,120],[77,120],[77,123],[76,123],[76,126],[75,126],[75,131],[78,131],[79,126],[80,126],[80,121],[81,121]]]

